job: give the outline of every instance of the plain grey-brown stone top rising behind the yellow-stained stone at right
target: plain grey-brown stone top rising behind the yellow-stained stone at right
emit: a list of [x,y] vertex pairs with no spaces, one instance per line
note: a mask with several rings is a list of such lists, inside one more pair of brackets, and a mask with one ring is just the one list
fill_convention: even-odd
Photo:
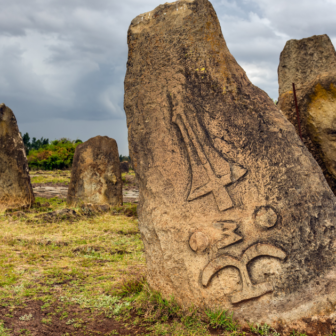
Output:
[[336,69],[336,52],[328,35],[287,41],[278,67],[279,97],[292,91],[292,83],[300,88],[331,69]]

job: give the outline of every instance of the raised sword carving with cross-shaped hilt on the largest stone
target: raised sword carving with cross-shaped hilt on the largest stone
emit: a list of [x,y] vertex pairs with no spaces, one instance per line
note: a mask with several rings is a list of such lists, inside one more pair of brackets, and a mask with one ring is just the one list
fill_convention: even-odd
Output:
[[[178,118],[178,116],[180,118]],[[237,181],[240,177],[245,175],[246,170],[238,166],[234,166],[236,178],[232,178],[232,173],[230,165],[226,160],[221,158],[221,175],[216,175],[212,169],[208,158],[206,157],[204,150],[200,143],[198,142],[195,133],[192,127],[189,124],[189,121],[183,111],[183,108],[176,108],[172,117],[173,123],[178,125],[184,142],[187,146],[188,154],[190,157],[191,163],[193,162],[193,150],[195,148],[196,153],[202,163],[202,166],[205,168],[208,181],[204,181],[204,178],[201,181],[200,186],[194,185],[194,178],[192,181],[192,188],[188,196],[188,201],[192,201],[198,197],[204,196],[209,193],[213,193],[216,203],[220,211],[224,211],[233,207],[233,202],[230,195],[228,194],[225,186],[228,184]],[[192,170],[195,170],[192,164]]]

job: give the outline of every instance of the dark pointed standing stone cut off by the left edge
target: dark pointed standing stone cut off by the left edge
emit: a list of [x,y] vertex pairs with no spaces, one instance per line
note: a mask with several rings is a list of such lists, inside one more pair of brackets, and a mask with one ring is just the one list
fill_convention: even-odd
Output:
[[34,203],[24,144],[14,113],[0,104],[0,210]]

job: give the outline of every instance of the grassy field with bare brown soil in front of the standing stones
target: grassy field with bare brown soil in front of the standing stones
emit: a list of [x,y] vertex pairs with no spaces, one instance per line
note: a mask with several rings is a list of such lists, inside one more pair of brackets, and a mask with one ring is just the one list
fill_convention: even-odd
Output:
[[66,213],[61,199],[36,201],[0,214],[0,336],[279,335],[152,292],[136,205]]

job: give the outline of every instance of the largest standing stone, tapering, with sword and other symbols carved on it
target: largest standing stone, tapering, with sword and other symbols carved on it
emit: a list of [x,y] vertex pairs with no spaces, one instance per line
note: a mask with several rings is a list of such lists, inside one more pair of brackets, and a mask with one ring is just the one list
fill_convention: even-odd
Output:
[[208,0],[139,15],[128,45],[150,286],[315,332],[336,304],[336,199],[294,127],[230,54]]

